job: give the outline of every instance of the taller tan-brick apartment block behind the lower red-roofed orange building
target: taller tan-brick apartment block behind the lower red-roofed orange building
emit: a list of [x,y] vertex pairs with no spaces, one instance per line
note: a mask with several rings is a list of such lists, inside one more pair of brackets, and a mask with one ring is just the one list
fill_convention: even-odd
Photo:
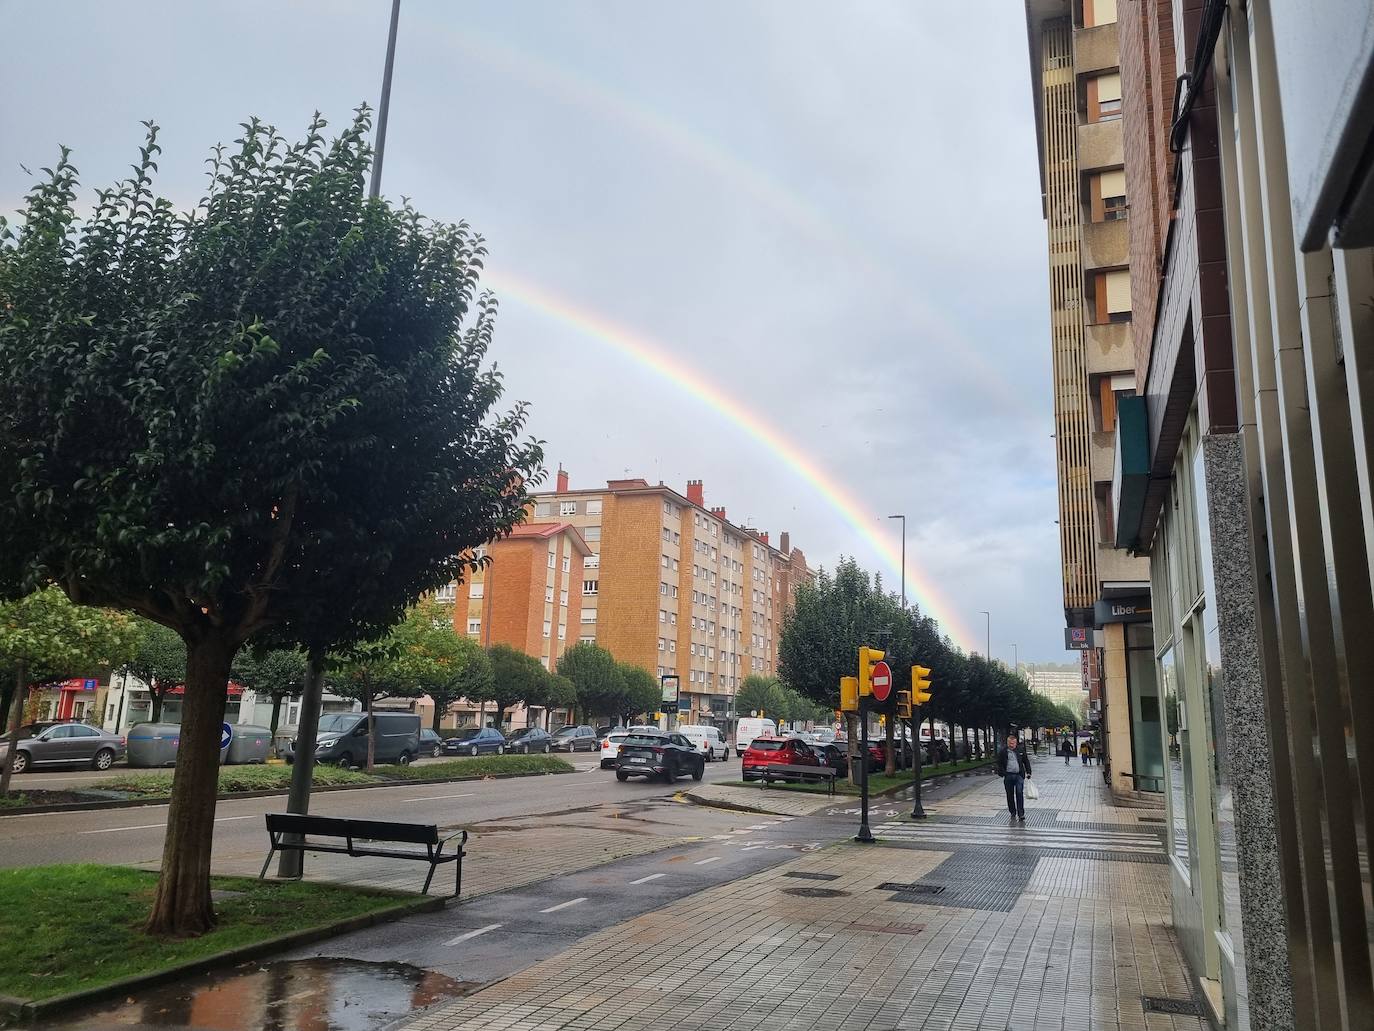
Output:
[[[727,726],[739,683],[776,671],[783,613],[809,576],[787,533],[774,546],[708,509],[699,480],[686,494],[631,478],[572,489],[563,470],[533,518],[576,528],[588,548],[576,639],[677,676],[684,720]],[[486,576],[500,566],[493,554]]]

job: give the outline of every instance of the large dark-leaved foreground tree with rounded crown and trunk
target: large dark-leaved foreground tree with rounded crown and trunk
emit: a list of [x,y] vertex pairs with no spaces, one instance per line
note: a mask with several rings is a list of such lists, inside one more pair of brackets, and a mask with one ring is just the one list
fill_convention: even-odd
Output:
[[0,224],[0,591],[54,580],[188,649],[151,932],[214,922],[245,642],[279,630],[319,668],[459,579],[540,472],[525,408],[496,411],[481,238],[367,198],[365,111],[323,128],[287,144],[247,122],[190,212],[153,192],[151,125],[89,216],[63,150]]

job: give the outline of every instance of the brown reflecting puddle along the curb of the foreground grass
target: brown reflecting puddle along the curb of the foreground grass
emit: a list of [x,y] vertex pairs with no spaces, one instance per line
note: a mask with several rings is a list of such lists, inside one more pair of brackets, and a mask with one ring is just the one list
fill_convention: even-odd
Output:
[[331,958],[251,962],[140,991],[122,1004],[107,1004],[44,1027],[376,1031],[478,987],[408,964]]

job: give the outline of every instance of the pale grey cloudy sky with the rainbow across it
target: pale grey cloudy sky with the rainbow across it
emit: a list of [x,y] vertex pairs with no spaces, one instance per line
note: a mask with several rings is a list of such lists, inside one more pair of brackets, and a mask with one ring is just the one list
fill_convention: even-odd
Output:
[[[376,103],[386,0],[0,0],[0,208],[162,126]],[[1062,660],[1044,230],[1010,0],[404,0],[383,191],[488,239],[495,357],[574,487],[629,472]]]

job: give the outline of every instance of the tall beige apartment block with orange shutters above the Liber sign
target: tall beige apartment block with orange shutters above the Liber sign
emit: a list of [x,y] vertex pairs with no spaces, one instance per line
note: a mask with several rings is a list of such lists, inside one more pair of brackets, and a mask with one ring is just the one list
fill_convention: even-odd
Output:
[[[1129,8],[1134,10],[1134,8]],[[1136,395],[1135,309],[1150,279],[1131,263],[1116,0],[1026,0],[1040,183],[1050,249],[1065,641],[1091,649],[1090,719],[1101,720],[1118,795],[1158,799],[1160,702],[1149,559],[1118,546],[1116,429]]]

